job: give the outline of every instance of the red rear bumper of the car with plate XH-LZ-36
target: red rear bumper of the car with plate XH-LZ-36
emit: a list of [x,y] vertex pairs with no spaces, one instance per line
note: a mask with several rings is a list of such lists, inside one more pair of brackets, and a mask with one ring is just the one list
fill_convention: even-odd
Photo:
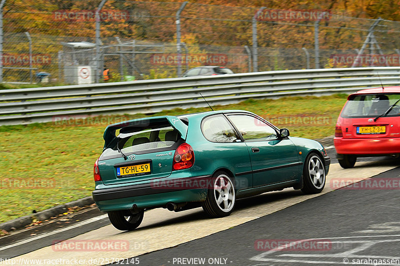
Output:
[[400,153],[400,138],[333,138],[337,154],[389,155]]

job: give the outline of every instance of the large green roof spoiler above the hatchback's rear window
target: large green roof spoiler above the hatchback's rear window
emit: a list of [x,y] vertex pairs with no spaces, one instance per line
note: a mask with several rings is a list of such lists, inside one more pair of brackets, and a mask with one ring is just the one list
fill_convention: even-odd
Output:
[[171,116],[171,115],[165,115],[165,116],[154,116],[154,117],[147,117],[147,118],[139,118],[139,119],[133,119],[133,120],[128,120],[128,121],[123,121],[115,124],[108,125],[103,134],[103,139],[104,139],[104,147],[108,146],[108,144],[115,138],[115,132],[118,129],[121,129],[123,127],[128,127],[128,126],[135,126],[135,127],[146,127],[151,123],[154,122],[164,122],[165,119],[168,121],[168,123],[176,129],[182,139],[186,139],[186,133],[187,133],[187,126],[176,116]]

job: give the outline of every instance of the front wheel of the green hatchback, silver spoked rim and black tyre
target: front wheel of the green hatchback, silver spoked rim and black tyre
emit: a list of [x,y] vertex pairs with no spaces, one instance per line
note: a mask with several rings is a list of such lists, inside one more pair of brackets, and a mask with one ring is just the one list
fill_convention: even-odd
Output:
[[303,168],[303,188],[305,194],[317,194],[325,186],[326,175],[323,160],[316,154],[310,153],[305,158]]

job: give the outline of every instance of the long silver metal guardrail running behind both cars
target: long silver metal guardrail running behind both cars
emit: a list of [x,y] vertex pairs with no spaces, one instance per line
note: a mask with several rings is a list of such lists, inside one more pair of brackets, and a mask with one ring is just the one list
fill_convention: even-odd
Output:
[[0,90],[0,125],[69,116],[154,113],[249,98],[350,93],[399,85],[400,67],[301,69]]

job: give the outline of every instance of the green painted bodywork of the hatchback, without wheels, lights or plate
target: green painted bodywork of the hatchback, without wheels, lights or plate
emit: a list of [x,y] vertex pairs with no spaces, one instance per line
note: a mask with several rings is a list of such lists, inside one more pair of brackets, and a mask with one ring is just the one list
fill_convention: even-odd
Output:
[[[102,212],[113,212],[131,210],[132,206],[138,209],[151,209],[165,208],[166,204],[171,202],[176,204],[203,202],[209,187],[185,186],[187,185],[185,181],[190,180],[190,184],[197,184],[201,180],[209,180],[220,170],[234,179],[236,199],[281,190],[285,187],[299,189],[302,187],[305,160],[312,152],[321,158],[325,174],[328,173],[330,159],[326,156],[322,145],[313,140],[285,137],[268,141],[243,141],[240,137],[241,140],[228,143],[212,142],[204,137],[201,127],[205,118],[220,115],[221,119],[230,121],[229,115],[234,114],[262,119],[247,111],[226,110],[142,118],[107,126],[103,135],[103,154],[98,159],[101,180],[95,181],[92,193],[98,209]],[[148,123],[169,124],[180,135],[176,145],[159,151],[150,149],[148,152],[129,152],[125,154],[126,158],[119,152],[109,149],[115,142],[118,130],[121,132],[124,128],[130,127],[133,132],[135,128],[143,125],[145,127]],[[166,135],[165,142],[167,142]],[[192,147],[194,163],[186,169],[172,170],[174,154],[182,143]],[[107,152],[112,155],[104,156]],[[134,155],[134,159],[130,160],[129,155]],[[118,166],[124,167],[141,162],[150,164],[151,174],[123,178],[117,176]],[[168,184],[180,185],[168,187]]]

